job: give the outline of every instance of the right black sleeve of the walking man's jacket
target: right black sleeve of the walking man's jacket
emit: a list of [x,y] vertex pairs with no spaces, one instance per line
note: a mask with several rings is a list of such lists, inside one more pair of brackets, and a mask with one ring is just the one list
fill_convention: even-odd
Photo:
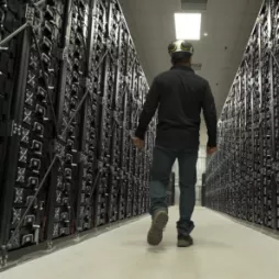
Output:
[[216,116],[216,107],[214,98],[210,88],[209,82],[207,82],[204,98],[202,101],[202,110],[204,120],[208,127],[208,147],[216,147],[216,134],[217,134],[217,116]]

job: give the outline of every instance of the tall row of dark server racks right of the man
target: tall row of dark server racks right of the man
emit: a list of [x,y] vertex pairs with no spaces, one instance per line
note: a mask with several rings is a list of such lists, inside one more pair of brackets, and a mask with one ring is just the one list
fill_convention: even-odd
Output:
[[205,205],[279,233],[279,1],[263,3],[219,121]]

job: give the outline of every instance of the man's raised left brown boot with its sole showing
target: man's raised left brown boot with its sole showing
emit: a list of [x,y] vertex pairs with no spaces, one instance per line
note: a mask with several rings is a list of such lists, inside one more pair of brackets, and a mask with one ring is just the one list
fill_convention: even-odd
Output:
[[163,239],[163,231],[168,223],[168,213],[166,210],[157,210],[154,213],[152,227],[147,235],[147,242],[149,245],[158,245]]

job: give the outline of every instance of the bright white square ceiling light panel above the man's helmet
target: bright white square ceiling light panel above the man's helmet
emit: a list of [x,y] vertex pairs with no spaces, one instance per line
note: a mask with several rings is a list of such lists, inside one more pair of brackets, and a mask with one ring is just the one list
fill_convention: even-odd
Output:
[[201,13],[175,13],[177,40],[201,38]]

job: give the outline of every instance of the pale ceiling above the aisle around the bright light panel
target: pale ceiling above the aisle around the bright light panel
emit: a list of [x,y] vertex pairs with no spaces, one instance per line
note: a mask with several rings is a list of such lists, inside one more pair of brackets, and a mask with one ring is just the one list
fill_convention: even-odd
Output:
[[[263,0],[209,0],[200,41],[193,41],[198,75],[210,81],[220,113],[242,60]],[[168,44],[176,38],[175,12],[181,0],[120,0],[142,66],[150,83],[170,67]],[[203,34],[208,33],[208,36]],[[202,126],[204,132],[204,124]],[[202,142],[205,141],[202,133]]]

